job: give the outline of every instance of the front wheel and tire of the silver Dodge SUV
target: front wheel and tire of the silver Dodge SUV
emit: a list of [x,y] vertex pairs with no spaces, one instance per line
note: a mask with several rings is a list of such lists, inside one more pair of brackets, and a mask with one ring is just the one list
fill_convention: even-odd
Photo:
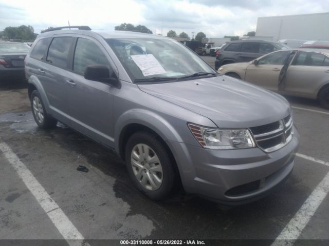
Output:
[[134,186],[145,196],[163,200],[172,194],[177,177],[175,163],[155,135],[133,134],[126,144],[125,162]]

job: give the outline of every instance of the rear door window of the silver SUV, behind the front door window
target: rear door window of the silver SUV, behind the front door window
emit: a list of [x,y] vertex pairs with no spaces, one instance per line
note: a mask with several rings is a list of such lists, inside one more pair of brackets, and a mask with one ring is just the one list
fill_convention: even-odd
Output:
[[47,61],[57,67],[66,68],[73,37],[54,37],[49,47]]

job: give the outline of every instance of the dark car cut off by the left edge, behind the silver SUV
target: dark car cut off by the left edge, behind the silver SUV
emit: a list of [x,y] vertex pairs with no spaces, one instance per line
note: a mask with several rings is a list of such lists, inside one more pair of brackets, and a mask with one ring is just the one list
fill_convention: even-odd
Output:
[[24,59],[30,47],[15,42],[0,42],[0,80],[25,79]]

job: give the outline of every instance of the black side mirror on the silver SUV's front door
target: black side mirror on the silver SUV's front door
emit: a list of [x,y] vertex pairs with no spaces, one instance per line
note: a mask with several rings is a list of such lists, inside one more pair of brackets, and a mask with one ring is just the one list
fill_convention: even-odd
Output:
[[84,69],[84,78],[114,86],[119,82],[114,71],[104,65],[88,65]]

